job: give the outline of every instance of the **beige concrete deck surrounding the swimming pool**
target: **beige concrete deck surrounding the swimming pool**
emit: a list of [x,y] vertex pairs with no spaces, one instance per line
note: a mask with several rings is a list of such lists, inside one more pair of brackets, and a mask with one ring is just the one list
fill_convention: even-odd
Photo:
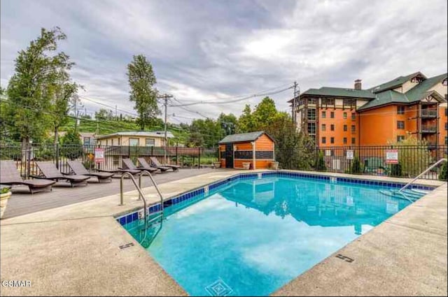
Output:
[[[236,173],[248,171],[197,175],[160,184],[160,190],[170,197]],[[384,180],[374,176],[356,178]],[[159,201],[153,187],[145,188],[144,193],[150,204]],[[130,191],[125,194],[126,205],[118,205],[119,194],[114,194],[1,220],[0,279],[31,281],[31,287],[1,287],[1,295],[187,295],[113,218],[141,208],[136,197],[137,191]],[[134,245],[120,249],[130,242]],[[275,294],[446,295],[447,185],[409,205],[337,254],[355,261],[348,263],[332,255]]]

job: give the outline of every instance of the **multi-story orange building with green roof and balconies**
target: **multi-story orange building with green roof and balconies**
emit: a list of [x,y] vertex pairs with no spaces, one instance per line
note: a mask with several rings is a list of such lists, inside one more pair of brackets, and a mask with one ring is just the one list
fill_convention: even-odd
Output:
[[362,89],[308,89],[288,101],[299,129],[322,147],[387,145],[415,136],[447,144],[447,73],[417,72]]

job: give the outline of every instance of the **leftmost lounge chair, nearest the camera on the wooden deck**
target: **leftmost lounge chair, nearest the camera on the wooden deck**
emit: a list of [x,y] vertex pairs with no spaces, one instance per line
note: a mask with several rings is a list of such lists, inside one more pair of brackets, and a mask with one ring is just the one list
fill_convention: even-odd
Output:
[[55,184],[54,180],[22,180],[14,161],[4,160],[0,164],[0,184],[7,184],[13,186],[15,184],[23,184],[28,186],[31,194],[39,191],[50,190],[52,184]]

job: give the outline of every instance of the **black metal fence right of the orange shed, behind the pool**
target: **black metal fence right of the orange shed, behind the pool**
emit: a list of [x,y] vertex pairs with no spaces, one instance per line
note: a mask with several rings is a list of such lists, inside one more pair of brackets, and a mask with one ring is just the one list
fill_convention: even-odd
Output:
[[[414,178],[447,158],[447,149],[447,145],[277,148],[276,161],[283,169]],[[422,178],[439,179],[441,168],[437,166]]]

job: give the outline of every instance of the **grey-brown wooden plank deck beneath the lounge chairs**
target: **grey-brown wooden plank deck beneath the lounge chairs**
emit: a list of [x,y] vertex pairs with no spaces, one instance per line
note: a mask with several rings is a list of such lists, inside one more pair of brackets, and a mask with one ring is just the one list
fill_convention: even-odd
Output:
[[[162,184],[219,170],[225,169],[180,169],[179,172],[168,171],[166,173],[155,174],[153,177],[155,182]],[[142,187],[148,187],[150,185],[151,182],[149,179],[144,178]],[[124,188],[125,191],[135,189],[130,180],[125,180]],[[57,182],[52,187],[52,191],[45,191],[33,195],[29,194],[28,187],[24,186],[13,187],[12,191],[13,196],[9,198],[2,219],[118,194],[120,193],[120,178],[113,178],[112,182],[102,182],[100,184],[96,178],[92,178],[87,186],[76,186],[74,188],[70,187],[69,182]]]

